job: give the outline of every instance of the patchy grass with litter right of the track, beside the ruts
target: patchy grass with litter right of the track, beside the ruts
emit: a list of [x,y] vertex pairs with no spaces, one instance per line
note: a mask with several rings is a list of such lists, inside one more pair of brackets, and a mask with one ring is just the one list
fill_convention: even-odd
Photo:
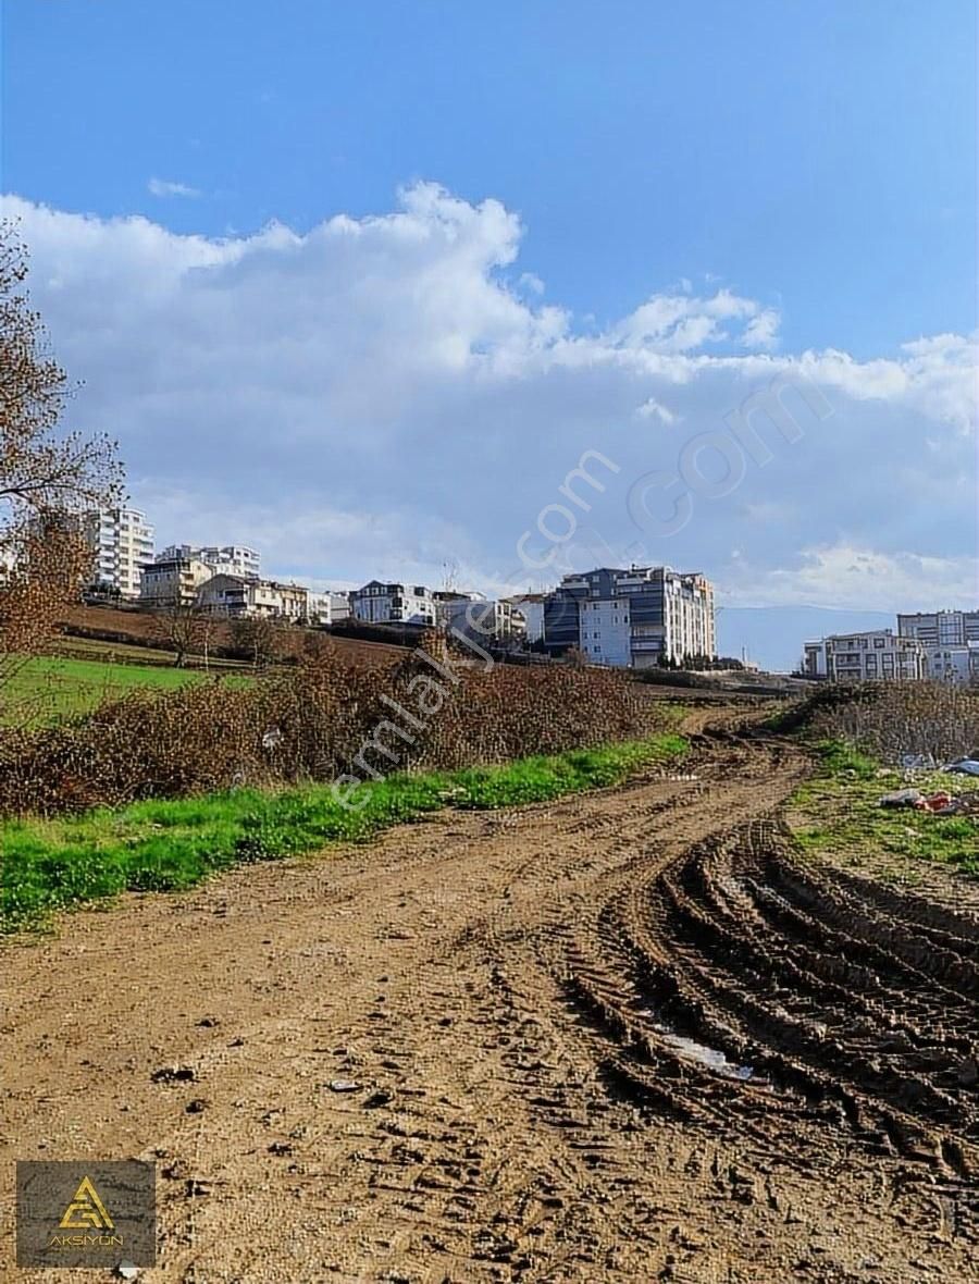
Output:
[[906,777],[840,741],[820,741],[813,749],[816,774],[790,800],[789,819],[803,849],[856,864],[880,856],[901,863],[934,860],[979,876],[979,822],[974,817],[879,805],[880,796],[893,790],[965,794],[979,788],[979,782],[943,772]]

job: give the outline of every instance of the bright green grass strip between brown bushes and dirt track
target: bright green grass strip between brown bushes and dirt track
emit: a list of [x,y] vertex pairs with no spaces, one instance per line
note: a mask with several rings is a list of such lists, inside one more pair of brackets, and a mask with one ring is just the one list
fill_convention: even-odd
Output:
[[683,758],[688,747],[666,732],[499,767],[390,776],[357,795],[366,800],[359,810],[337,802],[331,786],[311,785],[0,822],[0,931],[37,926],[53,910],[127,890],[182,890],[244,862],[362,841],[443,806],[517,806],[617,785],[654,763]]

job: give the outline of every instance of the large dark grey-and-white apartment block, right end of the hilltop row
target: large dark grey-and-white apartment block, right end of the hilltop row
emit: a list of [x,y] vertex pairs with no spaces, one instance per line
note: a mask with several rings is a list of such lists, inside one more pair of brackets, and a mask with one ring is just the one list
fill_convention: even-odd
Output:
[[647,669],[716,655],[713,586],[668,566],[565,575],[544,598],[544,645],[580,647],[593,664]]

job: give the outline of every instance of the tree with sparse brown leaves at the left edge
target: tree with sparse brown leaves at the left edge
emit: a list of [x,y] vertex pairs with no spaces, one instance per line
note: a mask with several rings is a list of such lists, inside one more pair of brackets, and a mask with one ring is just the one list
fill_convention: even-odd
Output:
[[123,484],[114,442],[59,431],[71,389],[26,280],[27,249],[0,222],[0,683],[78,597],[82,514],[119,503]]

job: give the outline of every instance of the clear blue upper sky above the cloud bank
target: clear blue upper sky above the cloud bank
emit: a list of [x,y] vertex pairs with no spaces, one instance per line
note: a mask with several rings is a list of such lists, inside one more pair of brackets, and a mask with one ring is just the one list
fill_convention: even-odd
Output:
[[[177,231],[389,207],[434,180],[524,218],[598,324],[679,277],[866,357],[975,324],[971,0],[21,0],[4,186]],[[203,193],[160,200],[158,176]]]

